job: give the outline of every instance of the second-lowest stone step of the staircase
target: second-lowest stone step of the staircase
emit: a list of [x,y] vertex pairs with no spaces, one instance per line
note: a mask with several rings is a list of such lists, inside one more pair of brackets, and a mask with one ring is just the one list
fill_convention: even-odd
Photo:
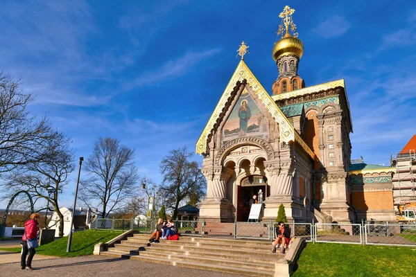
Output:
[[274,260],[268,260],[266,263],[264,260],[261,262],[251,262],[248,260],[232,260],[227,258],[207,257],[202,255],[196,255],[197,252],[184,252],[184,253],[165,253],[158,251],[140,251],[139,256],[152,256],[172,260],[187,260],[193,262],[203,262],[210,265],[227,265],[229,267],[243,267],[250,269],[262,269],[265,271],[274,271],[275,263]]

